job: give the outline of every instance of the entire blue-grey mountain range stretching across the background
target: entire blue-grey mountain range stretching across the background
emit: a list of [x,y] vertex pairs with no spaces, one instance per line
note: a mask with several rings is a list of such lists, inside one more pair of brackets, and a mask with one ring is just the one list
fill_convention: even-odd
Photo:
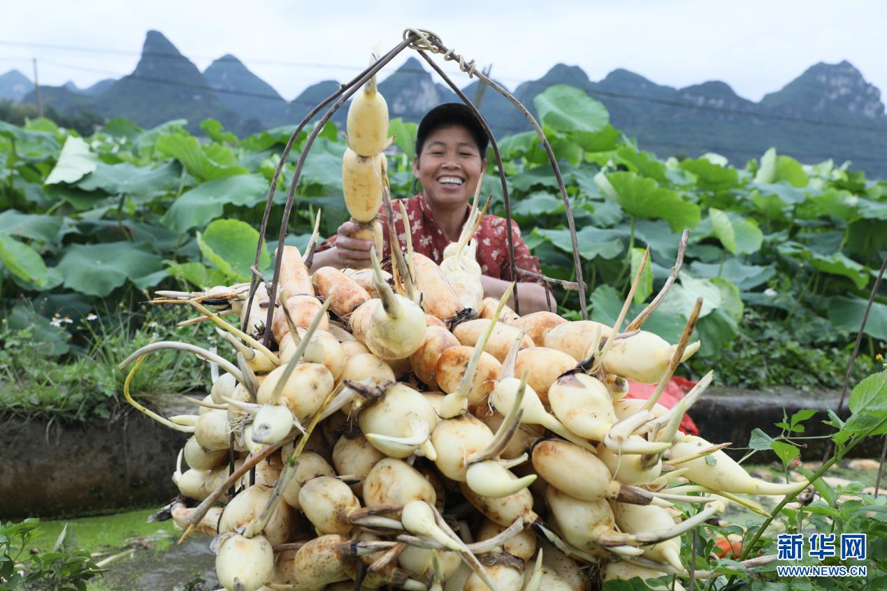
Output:
[[[472,81],[464,89],[468,97],[475,97],[477,84]],[[738,96],[725,82],[678,89],[622,68],[593,82],[582,68],[565,64],[556,64],[538,80],[522,82],[514,96],[535,113],[533,98],[553,84],[569,84],[600,100],[616,128],[659,156],[713,151],[742,164],[775,145],[805,162],[861,156],[855,167],[887,178],[887,157],[880,158],[887,154],[887,132],[879,131],[887,129],[881,92],[847,61],[811,66],[760,102]],[[41,94],[43,104],[59,113],[122,116],[143,126],[185,118],[192,130],[200,120],[213,117],[243,136],[301,121],[337,88],[337,81],[317,82],[287,103],[238,58],[225,55],[200,73],[165,36],[149,31],[142,58],[129,76],[97,82],[89,89],[41,86]],[[431,107],[458,100],[412,57],[382,76],[379,88],[390,116],[407,121],[419,121]],[[4,97],[33,101],[33,85],[11,70],[0,76],[0,98]],[[343,125],[347,112],[348,105],[343,105],[333,121]],[[522,114],[492,89],[485,89],[481,112],[497,136],[530,130]],[[827,125],[791,121],[798,118]]]

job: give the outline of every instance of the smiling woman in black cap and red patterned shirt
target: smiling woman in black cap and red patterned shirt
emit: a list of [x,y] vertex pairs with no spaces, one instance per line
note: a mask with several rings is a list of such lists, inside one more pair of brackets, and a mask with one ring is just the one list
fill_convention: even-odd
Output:
[[[405,199],[404,206],[410,221],[413,248],[438,264],[443,261],[443,249],[459,239],[467,220],[468,203],[475,194],[481,171],[486,168],[487,141],[475,116],[460,103],[436,106],[419,124],[412,172],[422,184],[422,192]],[[399,207],[395,206],[394,217],[398,235],[402,236],[404,222],[398,210]],[[382,206],[381,214],[387,220],[385,206]],[[373,243],[351,237],[356,231],[356,223],[343,223],[336,236],[318,248],[312,270],[324,266],[368,266]],[[539,273],[539,261],[530,254],[514,221],[512,237],[517,266]],[[498,298],[512,282],[506,221],[497,215],[485,215],[475,239],[478,240],[476,257],[483,271],[484,294]],[[385,250],[388,253],[388,245]],[[549,309],[546,285],[524,279],[520,277],[517,287],[521,313]]]

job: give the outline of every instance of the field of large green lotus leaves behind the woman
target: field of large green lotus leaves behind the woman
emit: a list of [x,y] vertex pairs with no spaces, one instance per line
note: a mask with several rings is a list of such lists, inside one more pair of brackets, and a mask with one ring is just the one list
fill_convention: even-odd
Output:
[[[678,284],[646,328],[673,341],[692,299],[703,295],[697,357],[718,361],[719,383],[836,385],[845,367],[843,339],[860,325],[872,270],[887,248],[879,225],[887,182],[832,161],[802,164],[774,149],[745,167],[728,166],[718,154],[660,159],[613,128],[606,109],[581,91],[553,87],[537,102],[576,218],[593,319],[615,319],[649,246],[652,270],[635,299],[636,309],[642,306],[663,283],[687,227]],[[237,139],[213,120],[201,124],[208,138],[192,136],[183,120],[143,129],[112,119],[90,136],[46,119],[22,121],[0,122],[0,303],[12,310],[24,298],[46,321],[72,319],[71,338],[53,337],[53,347],[67,355],[60,361],[74,362],[68,349],[94,348],[90,338],[98,333],[78,327],[103,306],[133,309],[151,290],[248,278],[255,228],[292,126]],[[391,129],[401,151],[387,156],[392,194],[405,196],[412,191],[415,125],[394,120]],[[307,136],[302,130],[295,139],[272,196],[265,236],[271,242],[259,265],[266,273]],[[573,279],[564,207],[538,137],[530,131],[499,144],[523,237],[546,275]],[[318,209],[324,236],[347,217],[344,149],[333,124],[320,130],[295,187],[287,243],[307,243]],[[488,154],[487,161],[483,189],[494,194],[494,213],[503,214],[495,159]],[[227,240],[233,230],[238,240]],[[578,317],[577,294],[556,295],[561,315]],[[51,333],[42,326],[31,338]],[[887,339],[881,294],[866,330],[860,362],[880,353]],[[115,344],[106,343],[113,341],[96,342],[106,354],[93,353],[109,366]]]

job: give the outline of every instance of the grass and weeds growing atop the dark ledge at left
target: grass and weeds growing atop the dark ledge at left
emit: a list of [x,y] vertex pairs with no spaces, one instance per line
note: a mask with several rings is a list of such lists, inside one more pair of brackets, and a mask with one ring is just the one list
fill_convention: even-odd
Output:
[[[47,320],[16,307],[0,324],[0,413],[68,422],[113,418],[125,407],[122,385],[129,368],[117,364],[127,355],[156,340],[204,347],[215,340],[205,325],[177,329],[180,313],[169,308],[132,313],[119,306],[77,320]],[[208,368],[200,359],[164,351],[145,358],[131,392],[158,400],[207,384]]]

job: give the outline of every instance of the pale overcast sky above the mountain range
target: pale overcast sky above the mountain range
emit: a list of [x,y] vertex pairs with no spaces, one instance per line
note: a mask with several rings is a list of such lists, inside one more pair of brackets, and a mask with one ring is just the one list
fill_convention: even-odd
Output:
[[349,79],[404,27],[492,63],[511,89],[563,62],[592,80],[617,67],[674,87],[722,80],[757,101],[816,62],[847,59],[887,91],[883,0],[0,0],[0,74],[32,77],[37,58],[42,84],[119,78],[153,28],[201,70],[232,53],[291,100],[313,82]]

